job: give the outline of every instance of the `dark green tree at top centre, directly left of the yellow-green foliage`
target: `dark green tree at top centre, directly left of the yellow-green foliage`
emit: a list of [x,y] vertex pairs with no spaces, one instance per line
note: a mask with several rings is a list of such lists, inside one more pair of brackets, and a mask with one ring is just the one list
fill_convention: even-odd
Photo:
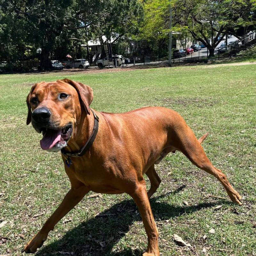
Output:
[[91,39],[99,40],[102,45],[111,38],[116,43],[121,38],[129,38],[136,34],[139,21],[143,15],[139,0],[81,0],[83,6],[79,11],[79,18],[86,26],[87,35]]

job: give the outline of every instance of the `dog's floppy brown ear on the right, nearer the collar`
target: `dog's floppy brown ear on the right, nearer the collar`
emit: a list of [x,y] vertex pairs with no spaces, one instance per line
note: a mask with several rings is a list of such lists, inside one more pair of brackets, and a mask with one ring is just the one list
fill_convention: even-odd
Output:
[[81,106],[84,107],[86,113],[90,115],[90,104],[93,100],[92,88],[88,85],[72,81],[68,78],[62,79],[60,81],[68,83],[76,89],[79,96],[79,100],[81,102]]

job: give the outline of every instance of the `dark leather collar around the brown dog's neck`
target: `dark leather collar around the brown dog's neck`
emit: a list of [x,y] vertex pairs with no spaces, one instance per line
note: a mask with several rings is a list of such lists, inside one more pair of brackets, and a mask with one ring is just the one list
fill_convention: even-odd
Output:
[[[91,109],[92,111],[92,109]],[[63,154],[64,156],[83,156],[85,154],[85,152],[92,146],[93,141],[96,138],[97,132],[98,132],[98,128],[99,128],[99,117],[92,111],[92,114],[94,116],[94,124],[93,124],[93,130],[92,130],[92,134],[89,137],[89,139],[86,141],[84,147],[79,151],[79,152],[66,152],[64,150],[64,148],[61,149],[61,154]]]

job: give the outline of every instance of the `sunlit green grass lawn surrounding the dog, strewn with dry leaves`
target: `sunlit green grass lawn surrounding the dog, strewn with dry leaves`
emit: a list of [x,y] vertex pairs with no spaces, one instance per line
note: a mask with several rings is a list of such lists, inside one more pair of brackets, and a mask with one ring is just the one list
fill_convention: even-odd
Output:
[[[178,111],[197,138],[210,132],[205,152],[243,196],[244,205],[231,203],[221,184],[180,152],[168,155],[156,165],[162,183],[150,200],[161,255],[256,255],[253,64],[0,75],[0,254],[21,255],[70,187],[60,153],[41,150],[42,135],[26,126],[31,85],[64,77],[90,85],[92,107],[99,111],[164,106]],[[209,233],[212,228],[215,234]],[[173,234],[192,248],[177,246]],[[85,197],[50,232],[37,255],[141,255],[146,247],[130,196],[102,195]]]

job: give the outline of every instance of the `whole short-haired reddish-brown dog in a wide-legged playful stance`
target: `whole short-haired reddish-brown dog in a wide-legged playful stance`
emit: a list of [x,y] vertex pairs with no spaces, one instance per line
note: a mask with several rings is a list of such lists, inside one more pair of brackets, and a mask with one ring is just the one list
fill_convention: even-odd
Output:
[[[79,152],[96,135],[82,156],[62,154],[71,189],[43,228],[25,246],[27,253],[36,252],[50,230],[89,191],[106,194],[127,193],[137,204],[148,235],[148,248],[143,256],[158,256],[158,231],[149,198],[161,180],[154,165],[169,152],[181,151],[202,170],[215,176],[230,199],[241,204],[241,196],[226,176],[209,161],[199,140],[184,119],[175,111],[162,107],[140,108],[123,114],[94,112],[89,108],[92,89],[69,79],[35,84],[27,97],[28,119],[37,132],[43,132],[41,148],[48,151]],[[89,143],[90,144],[90,143]],[[64,152],[64,151],[63,151]],[[147,193],[143,174],[150,180]]]

